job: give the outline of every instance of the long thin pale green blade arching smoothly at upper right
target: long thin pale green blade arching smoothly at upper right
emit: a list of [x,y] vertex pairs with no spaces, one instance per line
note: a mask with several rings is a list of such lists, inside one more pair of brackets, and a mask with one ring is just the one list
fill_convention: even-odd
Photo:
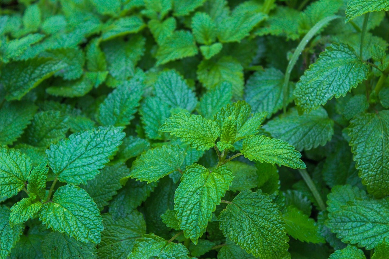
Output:
[[326,25],[327,23],[329,23],[330,21],[336,19],[336,18],[339,18],[339,16],[329,16],[329,17],[325,17],[324,19],[321,19],[320,21],[318,21],[310,30],[309,32],[304,36],[304,38],[300,41],[300,43],[298,44],[296,50],[294,51],[293,53],[293,56],[291,58],[291,60],[289,61],[289,64],[286,68],[286,73],[285,73],[285,80],[284,80],[284,86],[283,86],[283,93],[284,93],[284,99],[283,99],[283,109],[284,109],[284,113],[286,113],[286,101],[287,101],[287,97],[288,97],[288,84],[289,84],[289,79],[291,77],[291,73],[292,73],[292,70],[293,70],[293,67],[294,65],[296,65],[296,62],[297,62],[297,59],[298,57],[300,56],[301,52],[303,51],[303,49],[305,48],[305,46],[307,46],[308,42],[312,39],[312,37],[315,36],[315,34],[324,26]]

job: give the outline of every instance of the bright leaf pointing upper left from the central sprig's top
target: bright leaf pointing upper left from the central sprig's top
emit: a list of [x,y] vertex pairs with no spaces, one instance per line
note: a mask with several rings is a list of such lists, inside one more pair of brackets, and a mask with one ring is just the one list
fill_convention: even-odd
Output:
[[197,150],[207,150],[214,147],[220,134],[216,122],[204,119],[201,115],[189,113],[174,114],[165,120],[159,128],[162,132],[170,132]]

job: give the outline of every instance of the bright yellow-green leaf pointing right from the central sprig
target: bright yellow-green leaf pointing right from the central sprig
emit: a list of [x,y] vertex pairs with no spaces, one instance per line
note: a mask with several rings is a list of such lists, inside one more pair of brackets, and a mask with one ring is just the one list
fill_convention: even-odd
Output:
[[241,151],[245,158],[284,165],[291,168],[306,168],[305,163],[301,161],[300,152],[296,151],[293,146],[275,138],[265,136],[248,136],[243,140]]

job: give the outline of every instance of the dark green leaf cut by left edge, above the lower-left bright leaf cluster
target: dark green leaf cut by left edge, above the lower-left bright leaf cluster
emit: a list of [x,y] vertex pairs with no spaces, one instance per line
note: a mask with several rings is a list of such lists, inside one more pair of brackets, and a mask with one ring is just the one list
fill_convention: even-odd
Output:
[[0,144],[10,145],[30,124],[37,107],[30,102],[5,102],[0,108]]

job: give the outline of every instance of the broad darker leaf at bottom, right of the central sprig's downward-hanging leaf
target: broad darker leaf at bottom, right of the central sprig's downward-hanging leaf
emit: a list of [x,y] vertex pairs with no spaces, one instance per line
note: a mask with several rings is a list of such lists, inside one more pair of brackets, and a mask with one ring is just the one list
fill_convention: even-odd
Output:
[[[239,219],[239,220],[237,220]],[[220,213],[223,234],[248,253],[264,258],[283,258],[289,238],[277,205],[258,190],[239,193]]]

